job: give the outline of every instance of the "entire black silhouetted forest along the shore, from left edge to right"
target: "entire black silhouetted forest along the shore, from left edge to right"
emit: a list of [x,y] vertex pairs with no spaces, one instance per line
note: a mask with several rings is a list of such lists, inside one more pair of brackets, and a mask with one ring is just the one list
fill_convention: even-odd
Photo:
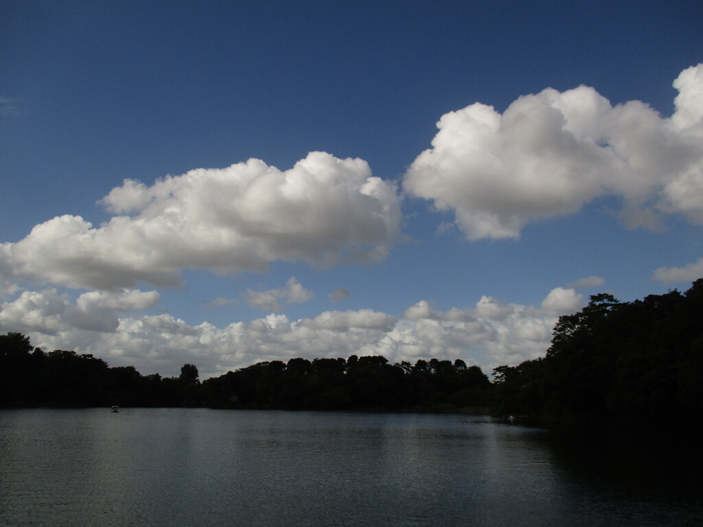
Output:
[[185,406],[463,412],[559,422],[703,417],[703,278],[686,292],[619,302],[591,296],[563,315],[546,355],[494,368],[463,360],[389,364],[382,356],[261,362],[200,382],[141,375],[75,351],[0,335],[0,406]]

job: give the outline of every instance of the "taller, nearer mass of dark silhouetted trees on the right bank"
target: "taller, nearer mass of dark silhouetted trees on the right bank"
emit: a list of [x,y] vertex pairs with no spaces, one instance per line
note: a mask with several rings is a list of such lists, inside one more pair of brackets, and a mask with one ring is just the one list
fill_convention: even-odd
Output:
[[546,356],[494,369],[494,411],[559,422],[703,417],[703,278],[619,302],[596,294]]

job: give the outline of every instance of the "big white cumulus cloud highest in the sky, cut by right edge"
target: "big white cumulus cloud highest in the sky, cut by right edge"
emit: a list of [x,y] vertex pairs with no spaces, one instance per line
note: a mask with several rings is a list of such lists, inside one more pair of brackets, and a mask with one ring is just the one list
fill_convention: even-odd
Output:
[[657,228],[663,214],[703,223],[703,64],[673,86],[670,118],[636,100],[612,106],[587,86],[522,96],[503,115],[481,103],[449,112],[404,190],[453,212],[471,240],[517,238],[607,195],[621,199],[628,228]]

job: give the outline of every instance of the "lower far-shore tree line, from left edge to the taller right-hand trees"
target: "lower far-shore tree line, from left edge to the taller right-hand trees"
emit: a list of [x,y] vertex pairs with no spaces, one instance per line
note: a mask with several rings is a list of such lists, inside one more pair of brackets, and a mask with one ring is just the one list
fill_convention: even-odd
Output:
[[382,356],[261,362],[200,382],[186,364],[179,377],[109,367],[91,354],[32,346],[0,335],[0,406],[203,406],[285,410],[487,412],[491,383],[463,360],[388,364]]

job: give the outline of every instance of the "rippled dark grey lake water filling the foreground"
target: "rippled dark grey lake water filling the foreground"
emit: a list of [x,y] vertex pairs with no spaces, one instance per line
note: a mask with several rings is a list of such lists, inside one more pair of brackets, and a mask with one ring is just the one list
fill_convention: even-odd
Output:
[[1,410],[0,525],[703,525],[690,463],[582,439],[456,415]]

